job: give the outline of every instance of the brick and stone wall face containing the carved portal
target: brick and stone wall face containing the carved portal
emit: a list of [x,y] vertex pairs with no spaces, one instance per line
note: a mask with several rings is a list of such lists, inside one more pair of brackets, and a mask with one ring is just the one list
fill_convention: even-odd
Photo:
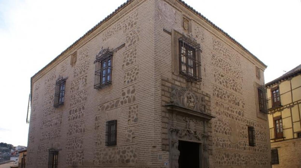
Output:
[[[178,50],[171,45],[172,31],[177,31],[192,34],[201,45],[202,81],[189,87],[205,93],[210,100],[209,110],[216,117],[209,121],[212,131],[210,167],[270,167],[268,122],[266,115],[257,114],[255,92],[255,84],[264,84],[265,67],[181,3],[158,0],[157,5],[155,65],[156,78],[161,79],[161,85],[157,87],[161,97],[162,150],[168,150],[170,145],[167,143],[170,113],[164,105],[169,102],[171,86],[187,87],[188,84],[172,68],[172,50]],[[183,26],[187,19],[188,28]],[[248,126],[255,128],[255,147],[249,146]],[[167,160],[168,151],[165,154],[166,158],[163,158]]]

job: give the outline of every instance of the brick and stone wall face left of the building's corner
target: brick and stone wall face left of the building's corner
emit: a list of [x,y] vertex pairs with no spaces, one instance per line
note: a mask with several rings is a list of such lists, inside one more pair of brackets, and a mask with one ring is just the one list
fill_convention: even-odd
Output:
[[[154,162],[154,7],[154,1],[132,1],[108,27],[33,78],[27,167],[48,167],[50,148],[59,151],[59,167]],[[101,47],[119,48],[113,53],[112,85],[96,90],[94,60]],[[65,101],[54,108],[59,76],[67,77]],[[110,120],[117,120],[115,146],[105,146]]]

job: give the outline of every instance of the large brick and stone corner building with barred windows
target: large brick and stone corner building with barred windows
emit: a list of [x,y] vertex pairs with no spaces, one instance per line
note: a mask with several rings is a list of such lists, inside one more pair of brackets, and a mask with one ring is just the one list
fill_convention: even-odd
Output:
[[178,0],[131,0],[31,78],[27,167],[270,167],[266,66]]

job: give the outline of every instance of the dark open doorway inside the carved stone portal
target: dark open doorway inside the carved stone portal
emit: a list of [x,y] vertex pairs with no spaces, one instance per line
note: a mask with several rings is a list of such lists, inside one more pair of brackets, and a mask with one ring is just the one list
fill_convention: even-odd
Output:
[[201,144],[196,142],[179,141],[178,150],[180,156],[178,160],[179,168],[200,168],[201,162]]

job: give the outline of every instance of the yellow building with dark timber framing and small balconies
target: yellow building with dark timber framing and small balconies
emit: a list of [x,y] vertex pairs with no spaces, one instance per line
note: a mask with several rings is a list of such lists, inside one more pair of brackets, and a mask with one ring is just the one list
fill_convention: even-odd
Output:
[[301,167],[301,64],[265,86],[272,167]]

